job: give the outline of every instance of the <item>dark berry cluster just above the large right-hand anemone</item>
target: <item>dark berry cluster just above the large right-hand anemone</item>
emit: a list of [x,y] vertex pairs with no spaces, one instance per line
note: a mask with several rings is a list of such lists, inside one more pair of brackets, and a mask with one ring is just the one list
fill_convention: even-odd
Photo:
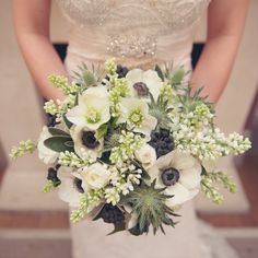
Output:
[[151,133],[151,141],[149,144],[155,149],[156,156],[163,156],[174,150],[174,139],[167,129],[160,129]]

